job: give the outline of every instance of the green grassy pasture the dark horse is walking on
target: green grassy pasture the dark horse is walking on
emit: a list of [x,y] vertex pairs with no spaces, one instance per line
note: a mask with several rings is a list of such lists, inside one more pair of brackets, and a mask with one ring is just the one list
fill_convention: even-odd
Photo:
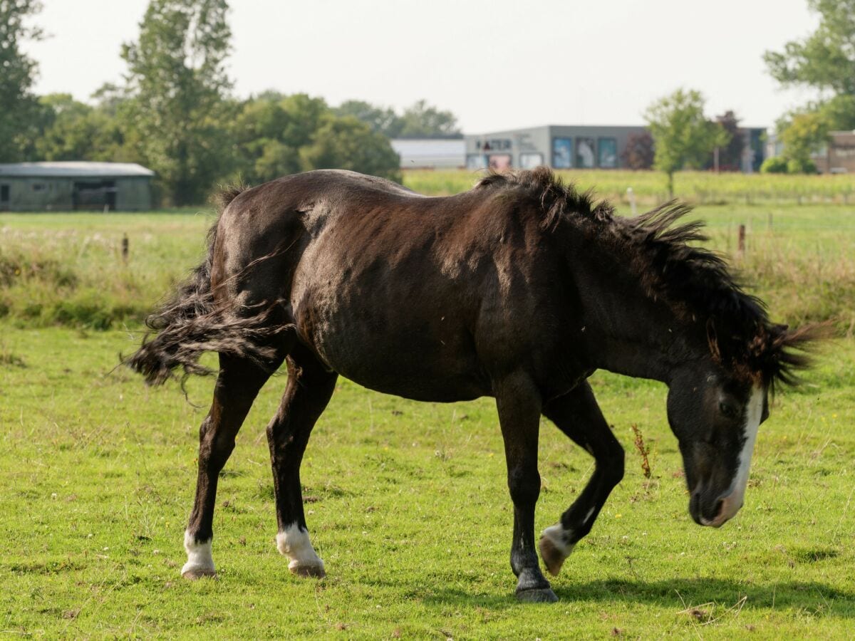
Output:
[[[461,188],[471,183],[466,175]],[[512,509],[492,399],[413,403],[344,379],[302,473],[327,578],[292,577],[275,549],[264,426],[283,375],[262,390],[222,473],[219,579],[180,579],[198,425],[213,379],[189,380],[186,400],[178,385],[148,389],[114,368],[139,340],[146,311],[198,262],[211,215],[0,215],[0,631],[851,636],[855,206],[840,201],[698,209],[711,244],[734,256],[773,318],[832,319],[837,338],[803,387],[776,398],[760,429],[746,506],[719,530],[687,514],[665,387],[595,374],[593,389],[627,450],[627,475],[552,580],[561,602],[536,606],[513,597]],[[746,253],[737,257],[740,224]],[[650,448],[650,478],[633,426]],[[590,456],[544,420],[538,531],[592,471]]]

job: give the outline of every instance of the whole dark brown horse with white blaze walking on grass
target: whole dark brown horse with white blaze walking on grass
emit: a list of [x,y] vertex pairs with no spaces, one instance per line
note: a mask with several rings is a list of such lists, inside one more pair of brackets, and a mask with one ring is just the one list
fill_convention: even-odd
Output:
[[[277,547],[292,573],[326,574],[306,526],[300,462],[336,379],[431,402],[494,397],[514,508],[516,597],[557,601],[557,575],[624,473],[594,398],[597,369],[668,385],[688,510],[722,526],[742,506],[775,383],[808,365],[810,327],[769,321],[702,223],[674,201],[633,218],[548,168],[490,173],[425,197],[385,179],[318,170],[224,191],[206,260],[149,318],[127,364],[150,384],[209,373],[187,579],[214,576],[218,475],[271,373],[287,385],[267,426]],[[182,379],[183,381],[183,379]],[[534,535],[544,415],[593,456],[584,491]]]

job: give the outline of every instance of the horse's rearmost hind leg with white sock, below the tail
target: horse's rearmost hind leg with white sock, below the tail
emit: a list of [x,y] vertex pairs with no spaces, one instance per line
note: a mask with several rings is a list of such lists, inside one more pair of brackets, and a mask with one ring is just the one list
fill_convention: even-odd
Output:
[[214,388],[214,400],[199,428],[198,480],[196,500],[184,534],[187,562],[181,568],[186,579],[215,576],[211,556],[214,537],[216,484],[223,466],[234,449],[234,438],[250,411],[258,391],[279,368],[284,358],[276,357],[262,367],[257,362],[233,356],[220,356],[220,374]]

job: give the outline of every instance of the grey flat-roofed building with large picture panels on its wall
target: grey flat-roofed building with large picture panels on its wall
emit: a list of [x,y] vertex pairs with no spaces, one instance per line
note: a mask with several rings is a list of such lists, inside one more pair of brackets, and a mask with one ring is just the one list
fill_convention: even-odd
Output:
[[[746,145],[741,169],[752,173],[763,162],[761,128],[741,130]],[[545,125],[466,136],[466,166],[470,169],[625,168],[623,152],[629,139],[647,132],[644,126]]]

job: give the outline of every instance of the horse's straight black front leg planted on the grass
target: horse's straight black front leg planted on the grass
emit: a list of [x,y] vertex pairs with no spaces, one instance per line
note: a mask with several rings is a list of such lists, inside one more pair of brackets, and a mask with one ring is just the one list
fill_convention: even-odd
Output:
[[496,385],[495,394],[508,464],[508,489],[514,502],[510,567],[517,577],[516,597],[521,601],[554,602],[558,597],[540,572],[534,543],[534,504],[540,496],[540,393],[528,375],[516,373]]

